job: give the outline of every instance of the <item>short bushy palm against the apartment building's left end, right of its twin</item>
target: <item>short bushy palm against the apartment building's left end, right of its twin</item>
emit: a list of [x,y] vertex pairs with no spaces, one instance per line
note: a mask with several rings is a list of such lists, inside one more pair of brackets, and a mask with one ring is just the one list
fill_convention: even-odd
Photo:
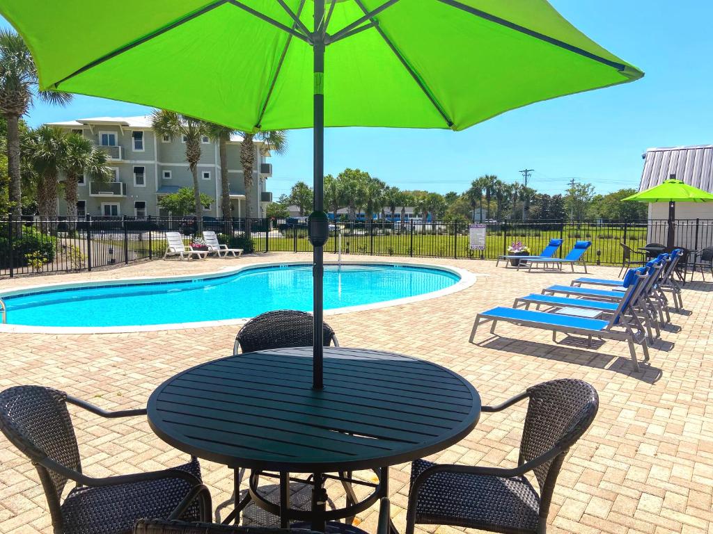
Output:
[[80,134],[70,134],[65,137],[65,150],[59,165],[66,174],[64,182],[64,199],[67,203],[68,219],[77,217],[77,184],[79,177],[106,182],[111,177],[107,155],[98,149],[93,142]]

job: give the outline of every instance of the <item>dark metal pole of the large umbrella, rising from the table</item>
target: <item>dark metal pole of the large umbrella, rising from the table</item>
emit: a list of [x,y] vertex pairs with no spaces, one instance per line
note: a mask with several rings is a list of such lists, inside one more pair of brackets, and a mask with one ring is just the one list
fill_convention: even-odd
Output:
[[[319,26],[324,17],[324,0],[314,1],[314,211],[324,211],[324,37]],[[322,323],[324,302],[324,246],[314,244],[312,256],[314,334],[312,354],[312,387],[324,387],[322,359],[324,335]]]

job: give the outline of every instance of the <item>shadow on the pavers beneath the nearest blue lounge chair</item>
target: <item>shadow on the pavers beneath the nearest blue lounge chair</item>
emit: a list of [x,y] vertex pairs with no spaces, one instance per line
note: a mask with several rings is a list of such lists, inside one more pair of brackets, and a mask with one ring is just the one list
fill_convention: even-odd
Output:
[[[557,360],[558,362],[585,365],[595,369],[606,369],[618,372],[622,375],[628,375],[642,382],[647,382],[648,384],[655,384],[662,376],[662,371],[657,367],[652,367],[650,362],[642,362],[639,360],[640,371],[635,372],[631,367],[631,360],[628,357],[593,352],[592,349],[584,350],[587,347],[586,339],[568,336],[565,337],[565,340],[568,341],[563,343],[563,340],[559,340],[557,345],[549,345],[534,341],[515,340],[511,337],[494,336],[488,337],[476,343],[476,345],[492,350],[503,350],[506,352],[514,352],[515,354],[534,356],[545,360]],[[592,340],[592,347],[595,347],[595,350],[604,344],[604,341]]]

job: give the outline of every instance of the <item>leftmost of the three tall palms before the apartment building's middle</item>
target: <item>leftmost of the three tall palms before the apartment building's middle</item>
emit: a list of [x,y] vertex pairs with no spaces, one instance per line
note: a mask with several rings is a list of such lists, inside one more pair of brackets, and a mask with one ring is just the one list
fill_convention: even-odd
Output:
[[151,127],[156,135],[185,138],[185,159],[193,174],[193,197],[195,199],[195,223],[197,231],[203,230],[203,204],[200,201],[200,184],[198,183],[198,162],[200,161],[201,137],[208,135],[208,123],[182,115],[174,111],[154,110],[151,114]]

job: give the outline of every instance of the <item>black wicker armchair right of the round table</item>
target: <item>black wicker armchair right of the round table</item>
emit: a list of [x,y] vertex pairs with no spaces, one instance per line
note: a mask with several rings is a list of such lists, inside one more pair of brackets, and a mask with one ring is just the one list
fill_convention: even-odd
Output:
[[[580,380],[560,379],[530,387],[496,407],[500,412],[529,399],[515,468],[411,464],[406,534],[416,523],[454,525],[505,534],[545,533],[560,467],[597,414],[596,390]],[[532,471],[539,492],[525,478]]]

